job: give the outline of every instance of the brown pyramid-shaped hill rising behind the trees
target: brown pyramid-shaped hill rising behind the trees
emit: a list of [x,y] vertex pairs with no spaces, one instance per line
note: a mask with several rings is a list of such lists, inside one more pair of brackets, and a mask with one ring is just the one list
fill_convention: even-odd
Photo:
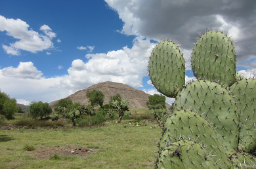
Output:
[[[70,96],[66,97],[66,99],[72,100],[73,103],[79,102],[83,105],[89,105],[89,101],[86,97],[86,93],[88,90],[102,91],[105,96],[103,104],[108,104],[111,96],[120,94],[123,100],[129,100],[129,109],[148,108],[146,106],[146,102],[148,102],[148,96],[150,96],[150,94],[146,94],[142,90],[137,90],[129,85],[110,81],[98,83],[96,85],[90,86],[89,88],[79,90],[74,94],[71,94]],[[58,100],[51,102],[50,105],[52,107],[55,107],[57,102]]]

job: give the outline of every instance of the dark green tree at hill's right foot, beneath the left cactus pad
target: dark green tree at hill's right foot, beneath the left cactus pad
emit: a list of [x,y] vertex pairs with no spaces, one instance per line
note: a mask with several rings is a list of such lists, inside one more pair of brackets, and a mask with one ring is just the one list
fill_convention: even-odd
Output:
[[166,108],[165,107],[165,96],[160,94],[154,94],[148,96],[148,102],[146,102],[146,105],[149,109],[160,109],[160,108]]

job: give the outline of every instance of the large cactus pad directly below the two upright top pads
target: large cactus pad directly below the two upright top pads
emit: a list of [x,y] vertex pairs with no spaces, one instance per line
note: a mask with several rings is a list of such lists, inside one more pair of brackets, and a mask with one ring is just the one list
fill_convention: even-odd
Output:
[[191,109],[207,119],[221,139],[226,153],[238,149],[238,107],[228,90],[211,81],[194,81],[186,86],[173,103],[174,110]]

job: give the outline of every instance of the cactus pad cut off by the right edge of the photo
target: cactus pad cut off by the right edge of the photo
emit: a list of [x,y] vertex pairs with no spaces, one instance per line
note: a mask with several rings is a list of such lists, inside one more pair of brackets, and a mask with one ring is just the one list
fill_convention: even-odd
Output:
[[240,108],[239,149],[250,153],[256,150],[256,79],[242,79],[230,86]]

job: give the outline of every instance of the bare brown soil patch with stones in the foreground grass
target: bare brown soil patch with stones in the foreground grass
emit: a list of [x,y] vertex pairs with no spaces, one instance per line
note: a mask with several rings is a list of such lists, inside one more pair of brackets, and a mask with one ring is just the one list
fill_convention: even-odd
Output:
[[54,154],[59,155],[60,157],[87,157],[92,153],[96,153],[98,149],[89,149],[86,147],[75,147],[69,145],[66,147],[47,147],[44,149],[35,149],[33,151],[26,151],[26,154],[30,155],[35,159],[49,159]]

